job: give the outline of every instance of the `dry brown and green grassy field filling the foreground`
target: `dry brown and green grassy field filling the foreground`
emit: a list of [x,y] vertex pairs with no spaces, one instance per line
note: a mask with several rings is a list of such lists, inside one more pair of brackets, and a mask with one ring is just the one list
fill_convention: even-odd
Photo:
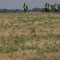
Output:
[[60,60],[60,13],[0,13],[0,60]]

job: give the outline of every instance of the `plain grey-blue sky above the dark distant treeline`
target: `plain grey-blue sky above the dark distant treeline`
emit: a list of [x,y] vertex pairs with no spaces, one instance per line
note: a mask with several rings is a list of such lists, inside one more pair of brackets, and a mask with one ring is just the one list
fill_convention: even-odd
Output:
[[29,8],[44,7],[45,3],[60,4],[60,0],[0,0],[0,8],[6,9],[23,9],[23,3],[27,3]]

